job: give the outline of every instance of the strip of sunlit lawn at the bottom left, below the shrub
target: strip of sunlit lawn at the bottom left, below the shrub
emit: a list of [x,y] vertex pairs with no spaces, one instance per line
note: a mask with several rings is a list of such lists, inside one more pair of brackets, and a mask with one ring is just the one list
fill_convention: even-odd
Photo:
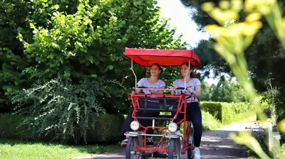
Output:
[[78,158],[104,153],[118,145],[110,146],[65,146],[56,143],[32,143],[0,139],[0,156],[5,159],[17,158]]

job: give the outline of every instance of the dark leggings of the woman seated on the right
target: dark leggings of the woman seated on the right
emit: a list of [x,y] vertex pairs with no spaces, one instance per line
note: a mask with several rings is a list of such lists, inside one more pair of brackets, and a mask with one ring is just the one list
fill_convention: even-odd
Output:
[[[187,103],[186,115],[194,127],[194,146],[199,147],[202,138],[202,114],[198,102]],[[180,114],[174,122],[178,122],[180,118],[182,118],[182,114]],[[178,124],[178,127],[179,126],[180,124]]]

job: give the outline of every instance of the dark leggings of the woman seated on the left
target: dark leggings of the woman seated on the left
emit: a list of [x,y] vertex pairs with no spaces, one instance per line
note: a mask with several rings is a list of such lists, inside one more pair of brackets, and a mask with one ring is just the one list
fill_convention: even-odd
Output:
[[[120,131],[120,136],[124,136],[124,133],[127,131],[131,131],[130,130],[130,123],[133,121],[132,118],[132,114],[133,114],[133,109],[130,109],[129,114],[127,116],[127,118],[125,119],[123,126],[121,128]],[[147,116],[147,117],[157,117],[159,116],[159,112],[144,112],[144,111],[140,111],[136,113],[136,116]],[[152,126],[152,120],[146,120],[146,119],[139,119],[138,121],[140,121],[140,124],[142,124],[142,126]],[[153,129],[152,128],[147,128],[147,133],[148,134],[153,134]]]

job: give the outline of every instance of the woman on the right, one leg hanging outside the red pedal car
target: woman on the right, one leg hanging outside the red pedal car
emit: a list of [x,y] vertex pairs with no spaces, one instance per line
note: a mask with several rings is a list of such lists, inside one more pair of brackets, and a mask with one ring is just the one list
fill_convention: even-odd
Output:
[[[187,95],[192,94],[193,97],[190,97],[190,99],[187,101],[187,119],[190,119],[194,126],[194,158],[199,159],[200,153],[199,153],[199,146],[201,143],[202,138],[202,114],[201,109],[199,108],[199,97],[201,97],[202,94],[202,84],[199,81],[199,79],[194,77],[194,69],[193,67],[190,67],[190,72],[187,74],[187,71],[189,70],[188,63],[182,63],[180,66],[180,72],[182,75],[181,79],[175,80],[175,82],[172,84],[173,89],[176,89],[177,87],[185,87],[185,79],[186,79],[186,88],[187,88]],[[179,91],[180,92],[180,91]],[[182,91],[183,92],[183,91]],[[172,91],[171,94],[175,94],[175,91]],[[177,120],[179,121],[179,116],[177,117]]]

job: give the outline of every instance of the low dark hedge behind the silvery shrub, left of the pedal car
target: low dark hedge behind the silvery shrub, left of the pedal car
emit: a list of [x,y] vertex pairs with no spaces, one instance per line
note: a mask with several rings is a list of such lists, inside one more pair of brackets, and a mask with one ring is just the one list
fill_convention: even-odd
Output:
[[[49,133],[48,136],[41,136],[40,138],[32,140],[31,138],[34,136],[31,136],[31,133],[25,131],[25,127],[17,128],[24,117],[24,115],[19,114],[0,114],[0,138],[28,141],[52,141],[52,133]],[[104,114],[97,118],[98,119],[94,123],[95,129],[88,131],[88,144],[117,143],[120,141],[120,136],[118,136],[118,134],[120,133],[120,128],[124,121],[123,115]],[[76,140],[78,143],[83,143],[81,142],[82,138],[76,138]],[[71,138],[68,143],[74,143],[74,139]]]

